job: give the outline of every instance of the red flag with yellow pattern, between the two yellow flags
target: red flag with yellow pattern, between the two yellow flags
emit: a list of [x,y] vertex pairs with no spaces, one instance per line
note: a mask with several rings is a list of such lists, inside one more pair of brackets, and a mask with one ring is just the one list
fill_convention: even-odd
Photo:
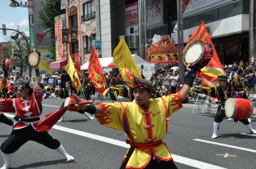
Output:
[[91,57],[89,59],[88,66],[89,75],[91,76],[91,82],[94,83],[94,87],[103,94],[107,86],[105,74],[103,74],[102,67],[99,63],[99,57],[95,46],[91,50]]

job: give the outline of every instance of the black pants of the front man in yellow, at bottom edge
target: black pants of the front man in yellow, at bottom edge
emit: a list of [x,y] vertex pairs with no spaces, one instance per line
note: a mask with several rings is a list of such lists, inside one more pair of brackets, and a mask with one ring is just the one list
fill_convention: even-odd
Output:
[[[134,152],[134,149],[129,149],[129,152],[127,154],[127,159],[125,160],[124,163],[122,163],[120,169],[124,169],[127,166],[127,162],[129,161],[129,157],[131,157],[132,152]],[[145,169],[176,169],[177,166],[174,164],[173,161],[162,161],[162,162],[157,162],[157,160],[153,159],[153,156],[151,157],[151,160],[148,162],[148,165],[146,166]]]

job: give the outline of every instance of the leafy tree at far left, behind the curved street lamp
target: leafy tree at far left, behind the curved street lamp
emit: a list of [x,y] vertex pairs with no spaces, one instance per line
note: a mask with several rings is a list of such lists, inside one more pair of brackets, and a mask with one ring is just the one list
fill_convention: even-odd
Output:
[[9,45],[4,48],[4,58],[15,58],[15,66],[20,68],[20,76],[22,76],[23,71],[29,68],[29,63],[27,61],[28,47],[26,40],[20,34],[13,32],[11,37],[13,38],[9,41]]

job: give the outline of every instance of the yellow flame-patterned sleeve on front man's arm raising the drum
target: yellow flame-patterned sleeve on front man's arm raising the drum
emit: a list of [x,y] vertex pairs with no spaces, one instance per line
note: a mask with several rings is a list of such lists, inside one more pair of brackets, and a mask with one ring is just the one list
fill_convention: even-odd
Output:
[[182,100],[181,100],[181,93],[175,93],[168,96],[162,96],[162,99],[165,101],[165,105],[167,107],[167,117],[173,115],[178,109],[181,109]]

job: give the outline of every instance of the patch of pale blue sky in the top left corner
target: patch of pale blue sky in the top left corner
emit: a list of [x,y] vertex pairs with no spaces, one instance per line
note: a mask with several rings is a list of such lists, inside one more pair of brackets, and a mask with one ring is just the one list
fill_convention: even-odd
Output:
[[[0,0],[0,28],[2,24],[6,24],[7,28],[17,29],[19,25],[20,31],[23,31],[26,36],[29,36],[29,12],[26,7],[10,7],[10,0]],[[18,1],[20,2],[20,1]],[[23,4],[25,1],[23,1]],[[7,31],[7,35],[3,35],[3,31],[0,30],[0,42],[8,42],[10,40],[10,33]]]

